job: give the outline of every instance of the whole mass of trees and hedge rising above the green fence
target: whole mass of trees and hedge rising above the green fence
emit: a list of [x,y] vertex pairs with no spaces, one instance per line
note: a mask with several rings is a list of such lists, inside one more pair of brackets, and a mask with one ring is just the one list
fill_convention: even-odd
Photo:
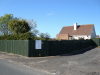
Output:
[[0,17],[0,40],[50,40],[48,33],[39,33],[36,27],[37,23],[33,19],[26,20],[13,17],[13,14],[5,14]]

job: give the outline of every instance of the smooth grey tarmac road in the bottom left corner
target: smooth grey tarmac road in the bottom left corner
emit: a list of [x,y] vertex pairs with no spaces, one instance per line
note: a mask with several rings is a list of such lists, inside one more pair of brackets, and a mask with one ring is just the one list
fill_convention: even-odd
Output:
[[52,75],[43,71],[0,59],[0,75]]

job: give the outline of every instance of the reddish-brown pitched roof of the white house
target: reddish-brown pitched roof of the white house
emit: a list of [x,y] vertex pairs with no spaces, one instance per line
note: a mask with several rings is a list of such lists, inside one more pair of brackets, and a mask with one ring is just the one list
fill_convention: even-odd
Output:
[[94,24],[77,25],[77,29],[74,30],[74,26],[65,26],[62,28],[59,34],[69,35],[91,35]]

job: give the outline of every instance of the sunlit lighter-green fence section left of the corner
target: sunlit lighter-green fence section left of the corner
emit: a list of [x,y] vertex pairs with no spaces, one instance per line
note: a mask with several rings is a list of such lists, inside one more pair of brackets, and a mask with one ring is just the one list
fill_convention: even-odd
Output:
[[28,56],[28,40],[0,40],[0,51]]

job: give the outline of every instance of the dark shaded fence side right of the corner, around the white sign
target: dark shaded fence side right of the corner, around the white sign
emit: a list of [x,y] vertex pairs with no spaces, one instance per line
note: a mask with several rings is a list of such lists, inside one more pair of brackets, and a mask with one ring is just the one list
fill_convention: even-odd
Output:
[[54,56],[91,46],[90,40],[42,41],[42,49],[35,49],[35,41],[29,42],[30,57]]

